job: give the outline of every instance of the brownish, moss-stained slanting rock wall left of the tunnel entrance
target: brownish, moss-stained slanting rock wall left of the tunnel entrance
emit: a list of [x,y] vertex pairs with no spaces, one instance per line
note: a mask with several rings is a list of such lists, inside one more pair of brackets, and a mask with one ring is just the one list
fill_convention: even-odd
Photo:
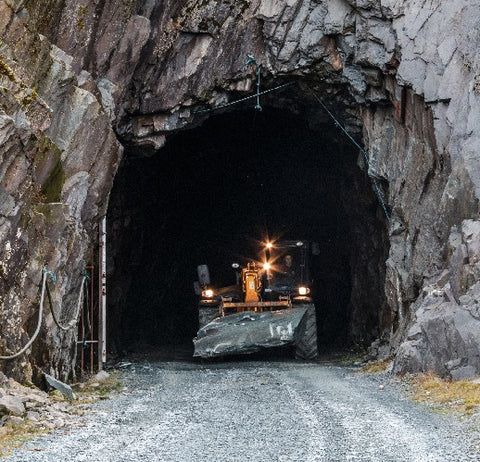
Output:
[[[93,225],[105,213],[121,146],[96,96],[79,86],[71,57],[32,29],[27,10],[0,2],[0,344],[19,351],[33,332],[46,267],[57,317],[76,315]],[[46,307],[45,307],[46,308]],[[32,364],[66,379],[76,332],[43,320]],[[24,358],[24,357],[23,357]],[[30,362],[4,363],[18,378]]]

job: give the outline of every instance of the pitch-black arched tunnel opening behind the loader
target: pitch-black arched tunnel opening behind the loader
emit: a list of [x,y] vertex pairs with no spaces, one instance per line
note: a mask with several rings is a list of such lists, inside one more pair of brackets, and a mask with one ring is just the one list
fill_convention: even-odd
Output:
[[312,260],[320,349],[367,344],[385,304],[381,211],[359,154],[333,124],[264,108],[211,116],[158,153],[127,147],[107,214],[108,347],[191,345],[193,283],[232,284],[231,263],[266,238],[319,244]]

